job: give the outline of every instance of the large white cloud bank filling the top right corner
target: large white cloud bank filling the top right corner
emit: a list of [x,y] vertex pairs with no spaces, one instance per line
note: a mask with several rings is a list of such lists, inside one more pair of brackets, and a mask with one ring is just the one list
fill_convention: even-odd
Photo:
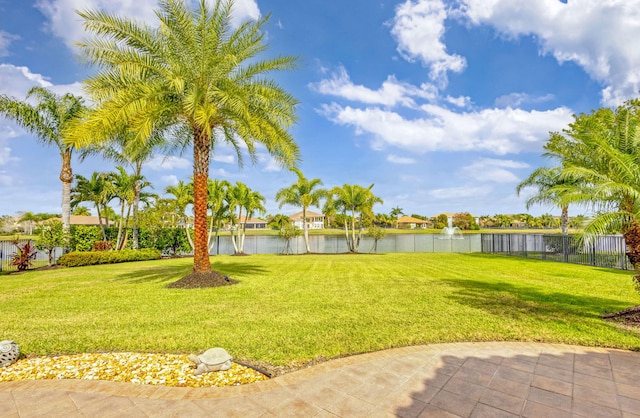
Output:
[[601,82],[602,103],[617,105],[640,89],[640,0],[460,0],[470,23],[508,38],[533,36],[541,52],[581,66]]

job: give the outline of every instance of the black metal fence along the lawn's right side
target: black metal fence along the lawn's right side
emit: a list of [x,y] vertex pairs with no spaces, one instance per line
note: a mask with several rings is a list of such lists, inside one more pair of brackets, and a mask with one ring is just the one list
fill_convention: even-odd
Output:
[[619,235],[579,240],[572,235],[482,234],[482,252],[632,270]]

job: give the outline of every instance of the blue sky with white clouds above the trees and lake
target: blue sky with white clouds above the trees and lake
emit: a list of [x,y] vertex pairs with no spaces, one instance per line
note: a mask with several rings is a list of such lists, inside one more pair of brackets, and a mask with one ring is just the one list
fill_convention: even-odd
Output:
[[[82,94],[76,8],[154,22],[155,0],[0,0],[0,93],[35,85]],[[375,184],[374,208],[427,216],[525,212],[515,186],[543,164],[549,131],[640,90],[640,0],[236,0],[238,20],[271,14],[268,54],[299,57],[277,81],[300,102],[300,168],[327,188]],[[247,160],[248,161],[248,160]],[[90,176],[113,165],[73,162]],[[60,158],[0,118],[0,214],[60,212]],[[191,156],[157,155],[155,192],[191,175]],[[216,150],[211,177],[242,181],[267,212],[295,175],[264,150],[238,168]],[[526,195],[527,191],[525,191]],[[551,212],[534,207],[532,214]],[[573,213],[584,213],[575,208]]]

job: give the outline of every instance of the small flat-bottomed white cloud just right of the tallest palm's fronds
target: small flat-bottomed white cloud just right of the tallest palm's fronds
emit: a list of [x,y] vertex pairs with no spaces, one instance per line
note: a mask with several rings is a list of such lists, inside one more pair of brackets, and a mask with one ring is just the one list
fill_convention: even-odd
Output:
[[311,83],[309,87],[322,94],[383,106],[415,107],[416,103],[413,98],[434,100],[438,94],[433,85],[422,84],[420,87],[416,87],[399,82],[393,75],[387,77],[378,90],[372,90],[362,85],[353,84],[344,67],[339,67],[331,78]]

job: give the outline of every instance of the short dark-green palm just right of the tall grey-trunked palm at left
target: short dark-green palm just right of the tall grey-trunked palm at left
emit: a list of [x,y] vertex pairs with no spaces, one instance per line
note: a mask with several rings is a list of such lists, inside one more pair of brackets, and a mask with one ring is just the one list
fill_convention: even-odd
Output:
[[[71,191],[71,206],[76,207],[82,202],[92,202],[98,212],[98,224],[102,231],[102,240],[107,240],[103,216],[107,217],[107,205],[114,198],[115,190],[107,174],[94,171],[91,178],[76,174],[76,185]],[[107,221],[108,222],[108,221]]]

